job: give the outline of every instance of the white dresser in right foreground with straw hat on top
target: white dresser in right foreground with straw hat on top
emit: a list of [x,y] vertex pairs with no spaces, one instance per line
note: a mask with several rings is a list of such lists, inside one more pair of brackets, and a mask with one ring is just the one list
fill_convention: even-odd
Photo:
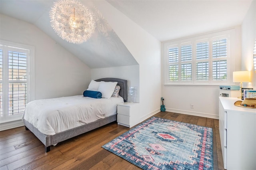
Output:
[[219,97],[219,130],[224,168],[256,170],[256,109],[237,107],[238,98]]

